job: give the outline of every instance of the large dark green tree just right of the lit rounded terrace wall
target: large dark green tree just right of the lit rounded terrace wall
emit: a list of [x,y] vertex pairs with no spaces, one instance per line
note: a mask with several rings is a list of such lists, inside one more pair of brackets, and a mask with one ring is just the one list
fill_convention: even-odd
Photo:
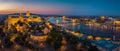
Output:
[[48,34],[48,38],[46,39],[46,44],[53,46],[55,49],[59,49],[62,45],[62,35],[57,30],[52,30]]

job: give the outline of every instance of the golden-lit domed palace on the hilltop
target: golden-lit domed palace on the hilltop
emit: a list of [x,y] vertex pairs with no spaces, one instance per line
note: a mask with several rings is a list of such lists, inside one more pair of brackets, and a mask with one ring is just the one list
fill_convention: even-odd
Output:
[[26,13],[16,13],[8,15],[8,25],[15,25],[18,21],[21,22],[41,22],[41,17],[31,14],[29,11]]

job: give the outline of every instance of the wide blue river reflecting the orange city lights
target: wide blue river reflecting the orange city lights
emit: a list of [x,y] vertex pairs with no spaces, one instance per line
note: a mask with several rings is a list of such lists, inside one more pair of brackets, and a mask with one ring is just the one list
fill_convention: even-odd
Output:
[[108,24],[98,24],[98,23],[70,23],[67,21],[63,21],[62,18],[50,18],[50,21],[53,24],[56,24],[56,20],[58,24],[62,24],[62,27],[71,29],[73,31],[78,31],[80,33],[92,36],[99,36],[103,38],[111,38],[112,40],[119,41],[120,40],[120,27],[115,27]]

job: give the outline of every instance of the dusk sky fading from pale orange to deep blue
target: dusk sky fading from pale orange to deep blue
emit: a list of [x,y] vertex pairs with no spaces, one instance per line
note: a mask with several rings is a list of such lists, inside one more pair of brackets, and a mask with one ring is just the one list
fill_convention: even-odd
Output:
[[0,14],[26,11],[36,14],[120,16],[120,0],[0,0]]

